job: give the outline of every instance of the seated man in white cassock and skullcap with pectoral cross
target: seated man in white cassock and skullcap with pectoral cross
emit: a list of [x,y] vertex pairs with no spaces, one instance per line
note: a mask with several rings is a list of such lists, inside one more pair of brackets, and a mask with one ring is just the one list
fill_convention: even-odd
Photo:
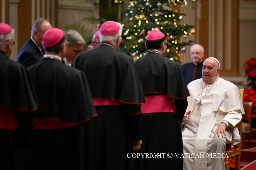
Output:
[[[230,127],[240,122],[244,108],[237,86],[220,78],[220,71],[216,58],[206,58],[202,78],[188,84],[190,96],[182,121],[184,170],[225,169],[223,157],[226,144],[231,143]],[[239,142],[235,127],[234,144]]]

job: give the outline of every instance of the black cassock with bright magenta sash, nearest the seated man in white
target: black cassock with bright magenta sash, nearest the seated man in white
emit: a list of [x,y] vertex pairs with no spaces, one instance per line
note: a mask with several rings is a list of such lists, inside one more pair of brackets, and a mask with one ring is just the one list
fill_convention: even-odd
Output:
[[136,160],[137,168],[182,169],[183,159],[177,158],[175,152],[183,153],[180,123],[189,92],[180,67],[155,50],[134,63],[146,99],[141,106],[143,136],[138,152],[145,155]]

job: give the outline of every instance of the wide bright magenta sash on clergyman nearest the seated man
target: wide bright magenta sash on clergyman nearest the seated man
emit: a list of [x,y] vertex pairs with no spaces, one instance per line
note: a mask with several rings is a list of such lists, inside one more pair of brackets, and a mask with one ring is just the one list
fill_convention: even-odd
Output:
[[141,104],[141,113],[173,112],[173,98],[167,95],[145,96],[146,103]]

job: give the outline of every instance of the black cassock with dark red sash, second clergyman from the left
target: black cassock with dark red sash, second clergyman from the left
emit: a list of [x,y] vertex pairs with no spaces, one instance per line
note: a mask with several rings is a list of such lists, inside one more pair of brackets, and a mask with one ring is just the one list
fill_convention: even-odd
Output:
[[27,70],[39,101],[30,169],[84,169],[84,126],[96,116],[84,73],[54,58]]

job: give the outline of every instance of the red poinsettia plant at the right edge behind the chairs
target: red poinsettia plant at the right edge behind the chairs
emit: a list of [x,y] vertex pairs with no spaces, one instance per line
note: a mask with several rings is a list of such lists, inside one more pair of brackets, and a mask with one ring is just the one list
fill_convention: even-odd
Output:
[[245,77],[247,87],[244,89],[244,101],[252,101],[252,118],[256,117],[256,57],[245,60]]

